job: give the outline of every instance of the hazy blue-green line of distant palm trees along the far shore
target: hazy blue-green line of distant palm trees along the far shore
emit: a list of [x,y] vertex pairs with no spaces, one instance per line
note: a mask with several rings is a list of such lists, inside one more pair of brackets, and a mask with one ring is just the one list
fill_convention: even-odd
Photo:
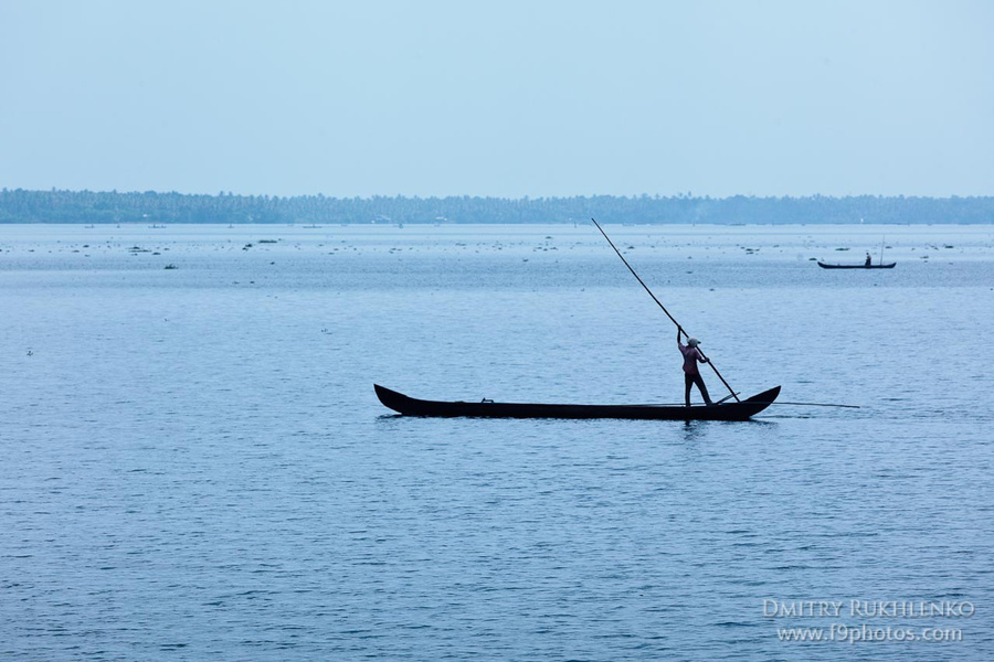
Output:
[[0,223],[994,223],[994,197],[326,197],[0,191]]

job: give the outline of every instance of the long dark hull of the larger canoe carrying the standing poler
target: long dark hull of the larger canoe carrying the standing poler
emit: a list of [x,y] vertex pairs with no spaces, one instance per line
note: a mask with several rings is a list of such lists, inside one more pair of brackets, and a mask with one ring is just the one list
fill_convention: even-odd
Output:
[[774,386],[750,398],[721,405],[551,405],[527,403],[465,403],[423,401],[373,384],[377,397],[404,416],[479,418],[635,418],[644,420],[745,420],[769,407],[780,395]]

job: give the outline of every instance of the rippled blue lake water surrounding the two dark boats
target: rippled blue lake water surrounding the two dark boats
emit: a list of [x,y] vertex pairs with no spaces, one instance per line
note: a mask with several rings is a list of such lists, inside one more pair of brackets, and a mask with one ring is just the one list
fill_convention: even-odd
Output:
[[679,402],[593,226],[0,227],[0,659],[994,659],[994,227],[605,228],[743,396],[861,408],[379,404]]

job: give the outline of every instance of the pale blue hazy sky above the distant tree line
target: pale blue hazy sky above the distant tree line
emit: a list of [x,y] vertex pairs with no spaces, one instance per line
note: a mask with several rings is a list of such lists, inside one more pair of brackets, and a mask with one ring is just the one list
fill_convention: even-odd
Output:
[[986,0],[0,0],[0,188],[994,195]]

